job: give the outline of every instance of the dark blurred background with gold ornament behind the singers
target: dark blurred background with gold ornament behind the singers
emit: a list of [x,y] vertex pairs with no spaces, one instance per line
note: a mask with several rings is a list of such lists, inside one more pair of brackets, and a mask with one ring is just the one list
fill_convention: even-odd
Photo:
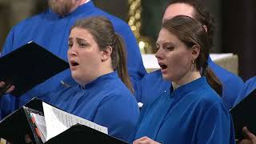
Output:
[[[168,0],[93,0],[94,4],[129,23],[140,50],[154,53],[154,42]],[[256,1],[201,0],[216,19],[211,53],[238,54],[238,75],[256,75]],[[0,0],[0,50],[11,27],[47,8],[46,0]]]

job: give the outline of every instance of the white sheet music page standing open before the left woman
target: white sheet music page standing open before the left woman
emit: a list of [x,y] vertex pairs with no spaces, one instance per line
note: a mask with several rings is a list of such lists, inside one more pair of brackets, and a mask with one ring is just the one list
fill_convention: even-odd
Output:
[[98,131],[101,131],[102,133],[108,134],[107,128],[104,126],[100,126],[94,122],[90,122],[74,114],[69,114],[66,111],[59,110],[58,108],[55,108],[54,106],[50,106],[45,102],[42,102],[42,106],[43,106],[43,111],[46,119],[46,130],[47,130],[46,141],[62,133],[63,131],[70,128],[70,126],[74,126],[77,123],[80,123],[85,126],[89,126],[94,130],[98,130]]

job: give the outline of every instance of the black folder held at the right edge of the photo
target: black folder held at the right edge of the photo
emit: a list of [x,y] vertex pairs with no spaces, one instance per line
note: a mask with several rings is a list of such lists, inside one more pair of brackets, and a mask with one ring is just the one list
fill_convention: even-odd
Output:
[[256,115],[254,110],[256,108],[256,89],[250,92],[246,98],[239,102],[234,108],[230,110],[233,122],[236,139],[242,139],[242,127],[247,128],[256,135]]

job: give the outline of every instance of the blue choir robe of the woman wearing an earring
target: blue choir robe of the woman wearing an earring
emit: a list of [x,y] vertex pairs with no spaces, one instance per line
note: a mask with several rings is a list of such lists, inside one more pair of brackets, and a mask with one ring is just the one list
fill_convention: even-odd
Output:
[[143,136],[161,143],[234,143],[234,126],[222,99],[202,77],[142,107],[135,139]]

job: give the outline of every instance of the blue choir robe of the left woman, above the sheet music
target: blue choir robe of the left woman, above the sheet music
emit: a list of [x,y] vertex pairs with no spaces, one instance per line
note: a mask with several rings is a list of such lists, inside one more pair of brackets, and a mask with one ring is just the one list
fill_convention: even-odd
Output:
[[132,142],[139,110],[134,95],[116,72],[102,75],[86,86],[70,86],[47,94],[44,101],[70,114],[108,128],[108,133]]

